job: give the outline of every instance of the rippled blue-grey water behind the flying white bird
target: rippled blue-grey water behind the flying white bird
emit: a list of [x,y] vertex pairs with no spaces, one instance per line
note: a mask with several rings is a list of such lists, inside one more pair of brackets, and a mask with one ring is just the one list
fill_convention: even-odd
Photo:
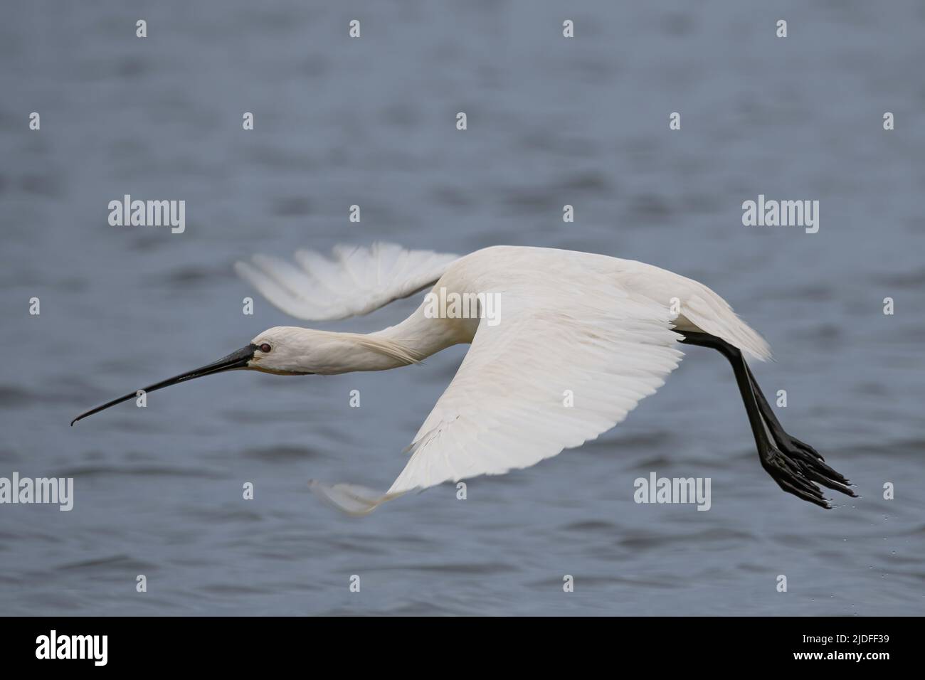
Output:
[[[0,613],[925,612],[918,0],[36,0],[0,17],[0,476],[75,484],[71,512],[0,505]],[[185,232],[110,227],[126,193],[185,200]],[[744,227],[759,193],[819,200],[819,233]],[[825,512],[777,488],[729,366],[698,348],[596,441],[360,519],[307,480],[388,488],[466,348],[210,377],[68,427],[292,323],[236,259],[376,240],[703,281],[771,342],[755,370],[787,390],[784,426],[861,498]],[[318,327],[375,330],[417,303]],[[709,512],[636,504],[652,471],[709,476]]]

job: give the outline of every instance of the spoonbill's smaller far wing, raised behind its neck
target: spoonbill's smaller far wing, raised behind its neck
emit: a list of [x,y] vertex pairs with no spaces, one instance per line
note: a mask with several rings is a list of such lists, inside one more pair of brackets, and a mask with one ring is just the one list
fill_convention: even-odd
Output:
[[333,259],[295,253],[296,264],[270,255],[235,263],[235,271],[283,312],[310,321],[369,314],[433,285],[459,255],[410,251],[391,243],[336,245]]

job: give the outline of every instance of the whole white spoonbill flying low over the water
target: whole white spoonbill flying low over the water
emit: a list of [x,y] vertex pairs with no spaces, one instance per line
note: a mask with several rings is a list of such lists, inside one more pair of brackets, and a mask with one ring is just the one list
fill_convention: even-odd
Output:
[[[606,255],[513,246],[459,257],[376,243],[337,246],[333,260],[309,251],[295,260],[298,266],[255,255],[235,268],[284,312],[315,321],[368,314],[429,287],[432,295],[397,326],[368,335],[268,328],[214,364],[144,389],[244,368],[284,376],[380,371],[472,343],[385,494],[310,482],[345,512],[369,513],[413,489],[527,467],[597,438],[664,383],[684,356],[679,343],[718,350],[733,365],[761,466],[784,491],[824,508],[817,483],[855,495],[817,451],[783,430],[761,394],[744,355],[769,358],[767,343],[690,278]],[[489,316],[492,302],[499,305]]]

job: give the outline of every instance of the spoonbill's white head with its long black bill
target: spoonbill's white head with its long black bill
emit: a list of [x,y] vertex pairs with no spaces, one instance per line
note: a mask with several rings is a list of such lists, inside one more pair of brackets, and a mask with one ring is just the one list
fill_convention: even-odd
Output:
[[[216,373],[234,370],[253,370],[264,373],[273,373],[278,376],[306,376],[314,373],[309,366],[311,361],[311,334],[313,332],[307,328],[291,328],[286,326],[277,326],[267,328],[260,333],[245,347],[236,352],[231,352],[223,356],[212,364],[206,364],[199,368],[181,373],[179,376],[168,377],[166,380],[142,388],[144,392],[153,392],[155,389],[168,388],[171,385],[177,385],[187,380],[197,377],[214,376]],[[104,411],[110,406],[117,403],[127,402],[138,396],[138,391],[129,392],[125,396],[114,399],[112,402],[106,402],[96,408],[78,415],[70,424],[74,423],[88,415],[93,415]]]

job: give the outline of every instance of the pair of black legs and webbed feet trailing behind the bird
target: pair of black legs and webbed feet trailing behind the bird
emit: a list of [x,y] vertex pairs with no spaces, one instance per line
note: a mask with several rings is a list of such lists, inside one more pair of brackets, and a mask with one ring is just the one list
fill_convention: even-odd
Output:
[[733,366],[735,382],[746,407],[752,434],[755,436],[761,467],[771,475],[780,488],[823,508],[830,506],[816,482],[848,496],[855,496],[854,491],[847,487],[848,480],[825,464],[815,449],[784,431],[764,394],[761,393],[742,352],[709,333],[678,332],[684,336],[682,342],[717,350]]

